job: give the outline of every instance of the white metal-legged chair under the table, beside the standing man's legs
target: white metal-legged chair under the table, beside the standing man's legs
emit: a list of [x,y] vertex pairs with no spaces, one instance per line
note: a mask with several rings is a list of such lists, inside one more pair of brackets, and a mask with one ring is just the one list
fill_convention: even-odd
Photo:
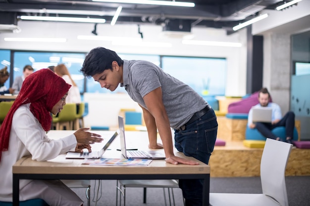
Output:
[[[118,183],[120,186],[118,187]],[[122,190],[122,187],[124,190]],[[116,182],[116,206],[117,206],[117,198],[118,198],[118,192],[120,192],[119,195],[119,205],[121,206],[121,196],[123,196],[123,203],[124,206],[126,204],[126,188],[127,187],[143,187],[144,188],[144,194],[143,194],[143,203],[146,203],[146,191],[148,187],[151,188],[163,188],[163,197],[164,197],[164,202],[165,206],[167,206],[167,201],[166,201],[166,194],[165,194],[165,189],[168,189],[168,197],[169,197],[169,203],[171,206],[171,196],[170,196],[170,189],[172,193],[172,201],[173,205],[175,206],[175,201],[174,201],[174,194],[173,194],[173,188],[179,188],[179,183],[175,179],[159,179],[159,180],[118,180]],[[183,204],[185,206],[185,203],[183,201]]]

